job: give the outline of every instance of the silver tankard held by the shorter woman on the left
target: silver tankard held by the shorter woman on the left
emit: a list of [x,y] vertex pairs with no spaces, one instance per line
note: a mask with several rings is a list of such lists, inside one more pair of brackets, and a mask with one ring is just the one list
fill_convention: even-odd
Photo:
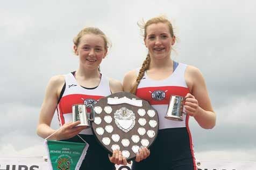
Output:
[[[87,107],[91,108],[90,117],[87,113]],[[86,105],[84,104],[76,104],[72,106],[72,113],[73,113],[73,122],[80,121],[79,125],[87,125],[88,128],[90,126],[90,122],[94,121],[95,113],[93,105]]]

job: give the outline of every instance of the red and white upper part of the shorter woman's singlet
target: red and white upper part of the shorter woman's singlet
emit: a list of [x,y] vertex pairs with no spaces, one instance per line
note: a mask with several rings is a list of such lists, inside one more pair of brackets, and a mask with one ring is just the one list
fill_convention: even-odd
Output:
[[[72,122],[72,106],[75,104],[95,104],[97,100],[111,94],[109,80],[104,75],[101,76],[101,82],[96,88],[84,88],[80,86],[73,73],[65,75],[65,91],[61,96],[58,106],[58,119],[60,125]],[[87,109],[88,113],[90,109]],[[82,130],[80,134],[93,135],[91,128]]]

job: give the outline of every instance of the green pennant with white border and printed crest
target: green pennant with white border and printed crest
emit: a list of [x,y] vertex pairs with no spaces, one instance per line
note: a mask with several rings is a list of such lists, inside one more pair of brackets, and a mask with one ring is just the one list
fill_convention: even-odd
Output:
[[51,170],[79,170],[88,143],[45,140]]

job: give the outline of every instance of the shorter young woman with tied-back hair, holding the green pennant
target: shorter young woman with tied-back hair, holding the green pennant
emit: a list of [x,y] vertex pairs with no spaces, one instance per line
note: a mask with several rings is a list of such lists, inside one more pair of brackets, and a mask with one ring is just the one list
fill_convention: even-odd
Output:
[[[97,100],[111,93],[123,91],[117,80],[103,75],[99,64],[108,53],[109,42],[105,34],[98,28],[86,27],[74,38],[74,53],[79,56],[79,67],[66,75],[54,76],[49,80],[46,94],[41,106],[37,134],[49,139],[69,142],[89,143],[86,157],[80,169],[115,169],[115,164],[126,164],[120,151],[113,151],[112,157],[98,144],[91,128],[76,126],[80,121],[72,122],[72,105],[95,104]],[[51,128],[55,110],[61,129]]]

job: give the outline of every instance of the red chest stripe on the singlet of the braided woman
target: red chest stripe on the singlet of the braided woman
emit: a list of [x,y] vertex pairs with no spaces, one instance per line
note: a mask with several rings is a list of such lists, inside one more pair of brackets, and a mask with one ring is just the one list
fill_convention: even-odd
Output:
[[[166,96],[163,100],[155,100],[152,98],[152,93],[157,90],[165,92]],[[139,98],[147,100],[151,105],[168,105],[171,95],[185,97],[187,93],[189,93],[189,88],[180,86],[143,87],[138,88],[136,91],[136,95]]]

